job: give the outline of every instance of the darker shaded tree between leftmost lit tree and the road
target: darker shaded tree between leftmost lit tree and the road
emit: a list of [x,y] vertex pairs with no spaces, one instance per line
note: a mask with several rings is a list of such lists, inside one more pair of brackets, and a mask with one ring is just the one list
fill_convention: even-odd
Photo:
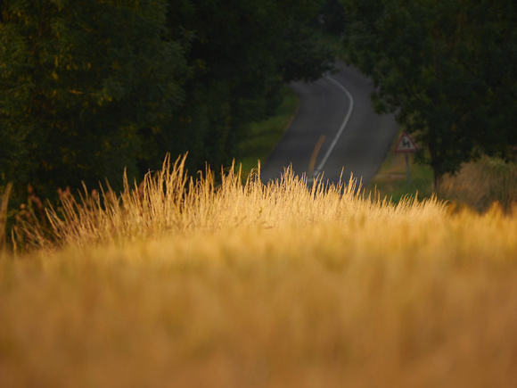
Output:
[[[172,36],[194,38],[193,78],[176,117],[170,146],[189,160],[218,168],[234,158],[250,122],[270,115],[280,87],[330,69],[332,53],[318,45],[318,0],[169,0]],[[185,136],[189,134],[189,136]],[[191,164],[192,166],[192,164]]]

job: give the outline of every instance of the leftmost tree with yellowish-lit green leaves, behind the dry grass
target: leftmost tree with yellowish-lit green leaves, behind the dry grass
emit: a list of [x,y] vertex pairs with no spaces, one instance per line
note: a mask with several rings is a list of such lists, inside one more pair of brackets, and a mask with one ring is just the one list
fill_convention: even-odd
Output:
[[1,14],[1,178],[51,197],[137,175],[188,75],[165,2],[4,0]]

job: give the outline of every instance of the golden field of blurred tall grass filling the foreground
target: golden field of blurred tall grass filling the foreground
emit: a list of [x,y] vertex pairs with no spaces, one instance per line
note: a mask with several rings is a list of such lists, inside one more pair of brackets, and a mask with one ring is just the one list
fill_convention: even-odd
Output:
[[515,217],[182,166],[19,230],[0,386],[517,385]]

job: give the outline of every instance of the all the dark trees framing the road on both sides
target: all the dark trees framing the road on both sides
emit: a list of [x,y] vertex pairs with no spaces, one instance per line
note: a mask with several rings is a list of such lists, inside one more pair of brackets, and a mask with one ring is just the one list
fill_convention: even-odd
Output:
[[373,79],[435,183],[517,144],[517,10],[504,0],[4,0],[0,186],[119,188],[166,153],[228,165],[280,87],[332,67]]

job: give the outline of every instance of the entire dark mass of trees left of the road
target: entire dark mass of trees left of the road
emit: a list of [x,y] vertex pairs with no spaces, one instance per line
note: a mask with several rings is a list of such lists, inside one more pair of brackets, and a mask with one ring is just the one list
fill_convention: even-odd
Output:
[[319,0],[4,0],[0,186],[113,186],[229,163],[283,82],[317,78]]

